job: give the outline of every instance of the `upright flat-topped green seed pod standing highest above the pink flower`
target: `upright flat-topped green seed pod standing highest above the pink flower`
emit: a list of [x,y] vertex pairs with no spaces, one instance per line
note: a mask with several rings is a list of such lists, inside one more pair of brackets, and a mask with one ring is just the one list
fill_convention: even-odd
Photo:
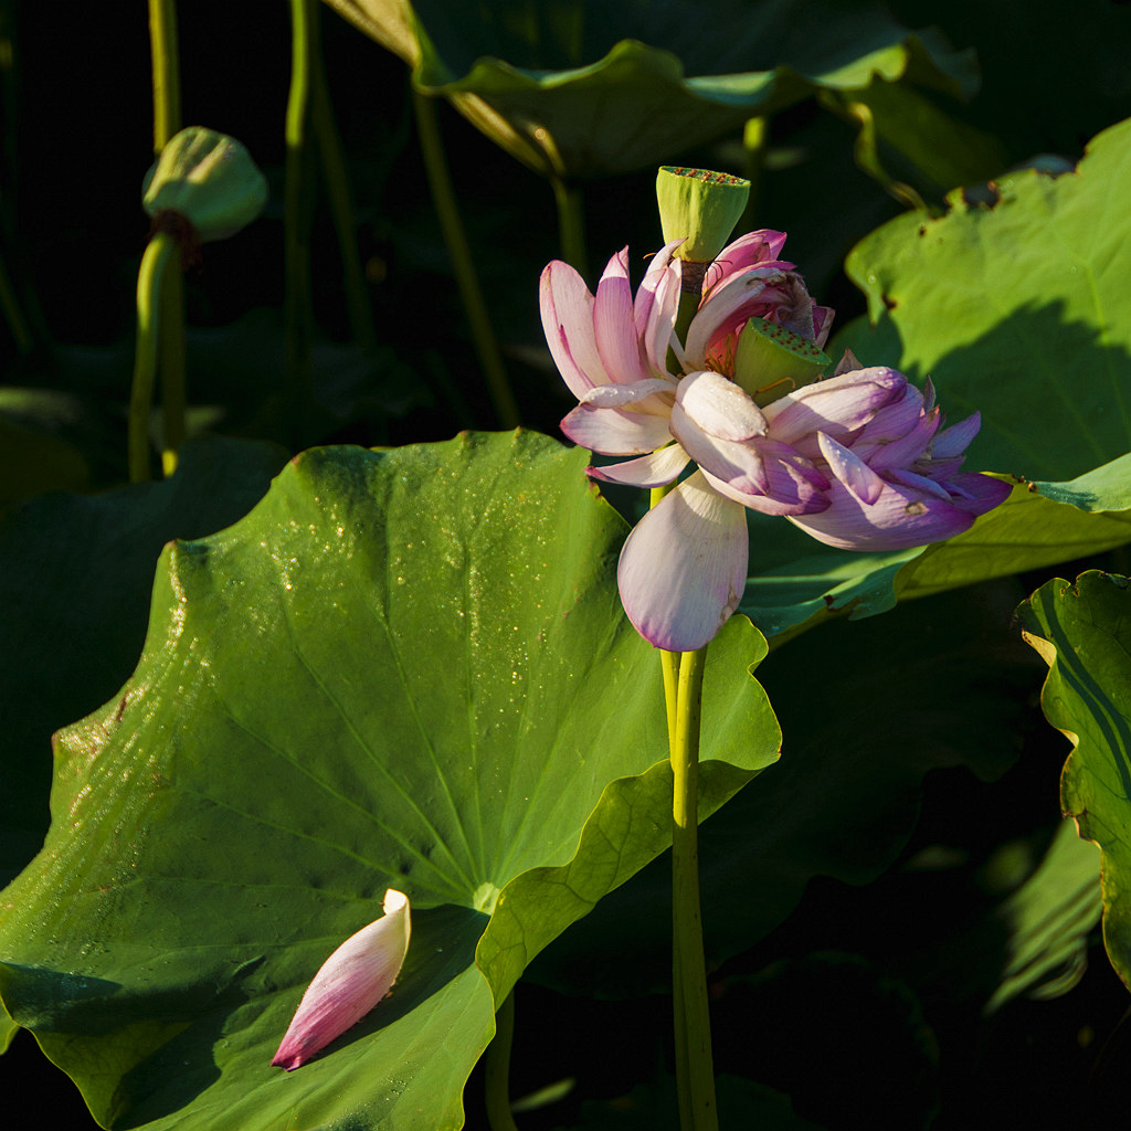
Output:
[[709,264],[725,247],[750,196],[750,181],[665,165],[656,178],[664,243],[687,238],[679,259]]

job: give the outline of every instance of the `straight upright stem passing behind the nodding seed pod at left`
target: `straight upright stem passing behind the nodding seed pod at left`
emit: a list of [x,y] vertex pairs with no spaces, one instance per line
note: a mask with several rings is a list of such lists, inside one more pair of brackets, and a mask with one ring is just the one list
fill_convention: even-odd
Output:
[[[181,128],[181,68],[175,0],[149,0],[149,43],[153,57],[153,152],[161,156],[169,139]],[[175,256],[165,261],[164,274],[157,318],[161,326],[161,463],[167,477],[176,469],[176,456],[184,442],[185,414],[184,279]],[[140,308],[138,317],[140,322]],[[138,348],[140,353],[140,345]]]

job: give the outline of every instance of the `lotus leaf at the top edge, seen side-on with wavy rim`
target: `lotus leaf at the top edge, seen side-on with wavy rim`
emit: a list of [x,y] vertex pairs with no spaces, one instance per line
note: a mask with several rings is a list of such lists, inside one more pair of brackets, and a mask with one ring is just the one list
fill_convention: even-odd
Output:
[[[674,155],[817,89],[905,75],[953,94],[973,57],[873,0],[329,0],[542,173],[616,173]],[[405,34],[405,19],[413,35]]]

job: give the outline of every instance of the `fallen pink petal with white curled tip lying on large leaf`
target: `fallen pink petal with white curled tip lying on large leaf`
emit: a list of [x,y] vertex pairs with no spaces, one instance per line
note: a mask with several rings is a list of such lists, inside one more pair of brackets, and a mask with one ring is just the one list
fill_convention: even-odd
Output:
[[411,931],[408,899],[389,888],[385,916],[346,939],[314,975],[271,1064],[301,1068],[356,1025],[396,982]]

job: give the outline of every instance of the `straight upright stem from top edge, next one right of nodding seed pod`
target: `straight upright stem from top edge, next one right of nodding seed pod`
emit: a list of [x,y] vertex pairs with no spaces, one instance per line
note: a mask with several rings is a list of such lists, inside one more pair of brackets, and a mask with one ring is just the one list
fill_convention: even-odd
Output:
[[[291,89],[286,103],[286,187],[284,243],[286,261],[286,420],[292,442],[299,421],[313,399],[310,340],[313,313],[310,291],[310,223],[313,190],[309,175],[307,129],[310,122],[311,58],[317,50],[317,0],[291,0]],[[301,444],[300,444],[301,446]]]

